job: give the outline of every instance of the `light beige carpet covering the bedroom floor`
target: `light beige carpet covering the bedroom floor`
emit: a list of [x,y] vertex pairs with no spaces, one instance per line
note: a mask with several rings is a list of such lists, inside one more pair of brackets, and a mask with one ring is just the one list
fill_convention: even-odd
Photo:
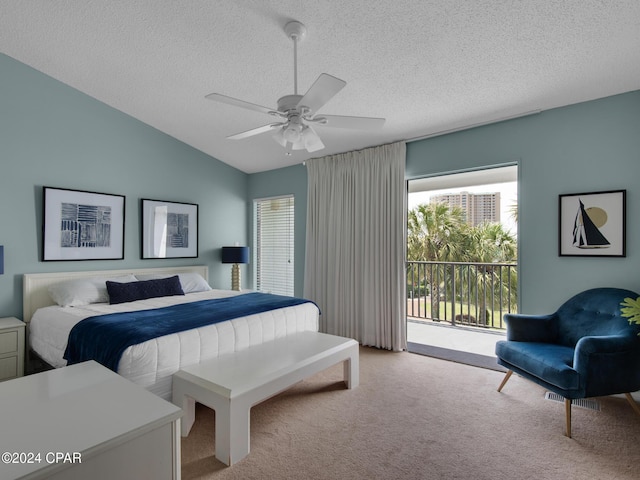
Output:
[[360,349],[360,386],[332,367],[251,410],[251,452],[214,456],[215,414],[197,406],[182,439],[189,479],[640,478],[640,416],[624,398],[601,411],[564,405],[514,375],[412,353]]

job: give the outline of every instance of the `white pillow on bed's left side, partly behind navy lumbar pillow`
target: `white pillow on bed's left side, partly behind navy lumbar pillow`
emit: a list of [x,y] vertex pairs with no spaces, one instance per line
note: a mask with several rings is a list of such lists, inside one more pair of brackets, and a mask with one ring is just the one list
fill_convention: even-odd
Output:
[[61,307],[78,307],[91,303],[106,303],[109,301],[106,281],[135,282],[133,275],[122,277],[93,277],[68,280],[49,286],[51,299]]

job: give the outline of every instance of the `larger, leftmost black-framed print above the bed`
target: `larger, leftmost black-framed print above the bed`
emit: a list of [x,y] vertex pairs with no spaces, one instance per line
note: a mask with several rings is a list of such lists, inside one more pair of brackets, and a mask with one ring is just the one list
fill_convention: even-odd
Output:
[[43,187],[42,259],[122,260],[124,195]]

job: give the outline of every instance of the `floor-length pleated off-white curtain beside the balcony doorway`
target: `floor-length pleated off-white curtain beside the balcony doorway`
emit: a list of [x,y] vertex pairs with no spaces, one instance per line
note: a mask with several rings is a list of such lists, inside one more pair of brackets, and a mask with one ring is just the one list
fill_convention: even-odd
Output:
[[320,330],[406,349],[404,142],[307,161],[304,294]]

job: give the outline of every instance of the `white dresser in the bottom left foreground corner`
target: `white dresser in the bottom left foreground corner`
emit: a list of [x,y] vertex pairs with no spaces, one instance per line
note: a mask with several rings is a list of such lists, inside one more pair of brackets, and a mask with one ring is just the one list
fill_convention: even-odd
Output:
[[0,383],[0,478],[179,479],[182,410],[90,361]]

